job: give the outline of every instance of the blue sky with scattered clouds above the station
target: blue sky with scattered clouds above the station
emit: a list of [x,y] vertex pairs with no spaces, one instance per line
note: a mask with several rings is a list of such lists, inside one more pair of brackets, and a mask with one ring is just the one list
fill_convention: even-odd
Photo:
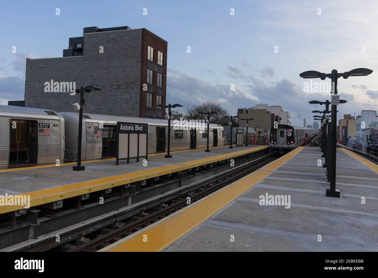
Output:
[[183,112],[204,100],[233,116],[266,103],[290,111],[293,125],[312,124],[311,111],[324,105],[308,101],[330,99],[314,83],[330,79],[313,79],[307,90],[310,80],[300,73],[369,68],[369,76],[338,80],[347,100],[338,118],[358,115],[378,108],[377,14],[378,1],[364,0],[3,1],[0,104],[24,99],[26,58],[62,57],[83,27],[130,26],[168,42],[167,103],[184,105]]

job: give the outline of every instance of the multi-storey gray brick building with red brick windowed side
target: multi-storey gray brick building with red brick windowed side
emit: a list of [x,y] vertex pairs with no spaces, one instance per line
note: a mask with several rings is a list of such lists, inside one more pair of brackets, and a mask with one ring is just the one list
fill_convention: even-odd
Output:
[[147,29],[83,28],[63,57],[26,60],[25,106],[73,111],[79,94],[46,92],[53,80],[102,89],[84,93],[84,113],[161,118],[166,74],[167,42]]

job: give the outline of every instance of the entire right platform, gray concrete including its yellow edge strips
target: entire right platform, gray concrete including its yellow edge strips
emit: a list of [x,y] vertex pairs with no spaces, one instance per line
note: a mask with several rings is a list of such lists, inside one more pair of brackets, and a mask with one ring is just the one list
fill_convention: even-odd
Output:
[[[377,165],[338,148],[331,198],[318,159],[299,147],[100,251],[378,251]],[[260,205],[266,193],[290,196],[290,208]]]

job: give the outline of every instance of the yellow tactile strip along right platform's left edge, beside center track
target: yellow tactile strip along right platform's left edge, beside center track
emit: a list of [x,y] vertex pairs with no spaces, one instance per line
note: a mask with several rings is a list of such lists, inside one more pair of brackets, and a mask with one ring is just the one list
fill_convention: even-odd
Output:
[[296,148],[285,156],[282,156],[282,158],[277,159],[245,178],[222,188],[199,202],[183,208],[173,216],[168,216],[165,220],[163,219],[160,223],[153,225],[153,227],[147,227],[146,230],[141,230],[135,236],[131,235],[125,238],[122,243],[115,243],[116,246],[111,245],[100,251],[158,252],[165,249],[230,202],[234,201],[249,190],[249,188],[262,181],[266,176],[270,175],[272,171],[293,158],[293,156],[299,153],[303,148],[304,147]]

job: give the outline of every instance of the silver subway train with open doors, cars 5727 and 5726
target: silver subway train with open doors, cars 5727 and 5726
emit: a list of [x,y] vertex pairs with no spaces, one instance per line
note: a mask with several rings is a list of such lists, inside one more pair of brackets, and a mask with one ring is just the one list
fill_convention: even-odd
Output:
[[[116,156],[116,123],[148,124],[148,154],[167,151],[168,121],[83,113],[82,161]],[[176,128],[171,120],[170,151],[207,146],[207,124]],[[98,127],[100,127],[99,129]],[[0,169],[75,162],[79,113],[0,105]],[[223,146],[221,125],[209,125],[209,146]]]

